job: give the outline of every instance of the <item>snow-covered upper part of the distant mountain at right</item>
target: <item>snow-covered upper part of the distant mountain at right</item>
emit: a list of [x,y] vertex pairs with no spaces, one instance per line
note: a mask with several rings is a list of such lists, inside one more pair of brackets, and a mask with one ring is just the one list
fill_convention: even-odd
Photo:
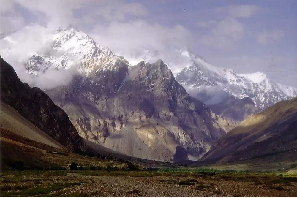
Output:
[[189,58],[192,64],[181,70],[176,80],[190,93],[195,93],[193,89],[199,94],[202,90],[205,92],[207,88],[216,87],[216,90],[219,88],[239,99],[249,97],[260,109],[297,96],[296,88],[275,83],[262,72],[238,74],[232,69],[208,64],[203,58],[189,52],[182,52],[180,56]]

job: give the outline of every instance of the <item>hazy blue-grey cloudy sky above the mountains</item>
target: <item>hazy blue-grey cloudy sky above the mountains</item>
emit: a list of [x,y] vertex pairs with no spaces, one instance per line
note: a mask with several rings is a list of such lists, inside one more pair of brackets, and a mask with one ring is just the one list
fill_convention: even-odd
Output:
[[215,66],[264,72],[297,87],[295,0],[0,2],[0,38],[16,31],[16,59],[29,56],[45,35],[72,24],[118,55],[187,49]]

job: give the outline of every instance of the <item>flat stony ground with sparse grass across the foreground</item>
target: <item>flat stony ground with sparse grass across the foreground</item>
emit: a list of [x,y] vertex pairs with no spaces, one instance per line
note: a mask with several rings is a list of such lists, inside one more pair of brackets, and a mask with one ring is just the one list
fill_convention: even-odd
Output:
[[297,178],[255,173],[22,171],[1,174],[1,197],[296,197]]

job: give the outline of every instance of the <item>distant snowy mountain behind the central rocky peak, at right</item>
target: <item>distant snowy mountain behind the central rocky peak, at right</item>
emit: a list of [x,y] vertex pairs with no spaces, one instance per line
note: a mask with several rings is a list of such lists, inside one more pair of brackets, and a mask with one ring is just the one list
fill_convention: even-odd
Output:
[[[275,83],[265,74],[238,74],[231,69],[208,64],[189,51],[142,50],[145,61],[162,60],[174,71],[187,92],[204,102],[218,115],[217,121],[229,131],[250,115],[281,100],[297,95],[297,89]],[[135,61],[134,58],[129,60]],[[180,71],[180,68],[184,68]],[[223,120],[221,120],[223,118]]]

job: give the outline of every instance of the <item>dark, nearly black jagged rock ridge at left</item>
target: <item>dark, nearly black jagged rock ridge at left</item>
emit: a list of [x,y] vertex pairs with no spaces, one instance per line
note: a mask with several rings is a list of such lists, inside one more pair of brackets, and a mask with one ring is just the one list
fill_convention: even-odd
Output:
[[53,137],[69,151],[86,152],[88,147],[72,125],[68,115],[37,87],[22,83],[12,66],[2,58],[1,101]]

